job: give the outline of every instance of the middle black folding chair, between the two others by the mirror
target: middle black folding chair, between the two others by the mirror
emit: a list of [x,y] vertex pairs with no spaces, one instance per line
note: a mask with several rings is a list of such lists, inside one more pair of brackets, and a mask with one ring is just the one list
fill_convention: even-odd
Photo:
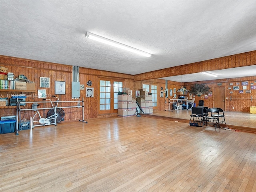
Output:
[[218,127],[220,128],[220,120],[219,120],[219,113],[220,111],[218,108],[209,108],[206,110],[206,115],[203,117],[203,125],[206,122],[206,126],[208,123],[215,125],[215,130],[218,124]]

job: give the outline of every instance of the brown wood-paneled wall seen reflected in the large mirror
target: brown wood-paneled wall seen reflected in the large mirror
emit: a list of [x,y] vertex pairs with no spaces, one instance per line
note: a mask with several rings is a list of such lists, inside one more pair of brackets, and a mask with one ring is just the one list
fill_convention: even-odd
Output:
[[[170,89],[174,89],[176,88],[176,91],[178,89],[180,89],[182,86],[186,86],[187,90],[190,90],[190,86],[192,86],[193,84],[202,84],[205,83],[207,84],[212,91],[212,96],[208,96],[207,99],[205,98],[201,98],[201,96],[195,96],[193,98],[195,98],[195,103],[196,106],[198,106],[199,100],[204,100],[204,105],[208,106],[209,108],[214,107],[214,88],[218,87],[218,83],[222,83],[221,86],[223,86],[225,88],[225,98],[228,98],[225,100],[225,111],[238,111],[238,112],[250,112],[250,106],[256,106],[256,90],[251,90],[250,94],[246,94],[245,90],[244,93],[241,94],[239,93],[238,90],[233,90],[233,86],[236,86],[236,83],[239,83],[240,86],[240,90],[242,90],[242,84],[241,82],[246,82],[248,81],[248,85],[247,85],[247,90],[250,90],[250,84],[253,83],[254,85],[256,85],[256,83],[254,83],[256,81],[256,76],[250,76],[250,77],[243,77],[243,78],[230,78],[230,79],[220,79],[220,80],[209,80],[209,81],[202,81],[202,82],[190,82],[190,83],[180,83],[180,82],[173,82],[173,81],[168,81],[168,90]],[[165,89],[165,80],[162,79],[152,79],[152,80],[144,80],[144,81],[134,81],[134,88],[135,90],[139,90],[142,88],[142,84],[146,83],[146,84],[157,84],[158,85],[158,106],[157,108],[154,108],[154,111],[164,111],[164,110],[168,110],[168,102],[169,102],[169,98],[172,99],[172,97],[174,96],[169,96],[168,99],[164,98],[160,98],[160,88],[163,87]],[[230,85],[233,84],[233,85]],[[228,88],[231,88],[228,89]],[[230,93],[233,92],[233,93]],[[179,93],[176,92],[177,97]],[[187,94],[188,98],[189,98],[189,92]],[[231,100],[230,100],[230,96],[231,96]],[[251,96],[252,96],[252,100],[251,100]],[[234,109],[233,109],[234,107]]]

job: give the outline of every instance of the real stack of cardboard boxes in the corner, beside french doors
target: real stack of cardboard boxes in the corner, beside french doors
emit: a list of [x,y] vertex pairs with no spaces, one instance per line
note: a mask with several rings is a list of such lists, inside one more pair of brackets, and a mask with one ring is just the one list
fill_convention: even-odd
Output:
[[123,92],[127,94],[118,95],[118,116],[136,115],[136,99],[132,98],[132,90],[130,88],[123,88]]

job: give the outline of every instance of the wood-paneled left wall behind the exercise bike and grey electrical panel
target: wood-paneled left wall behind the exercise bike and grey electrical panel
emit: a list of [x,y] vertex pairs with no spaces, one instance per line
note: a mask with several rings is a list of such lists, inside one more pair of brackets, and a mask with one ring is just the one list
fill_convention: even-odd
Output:
[[[66,82],[66,94],[56,95],[60,98],[60,101],[76,101],[72,99],[72,66],[56,64],[50,62],[40,62],[29,59],[14,58],[9,56],[0,56],[0,66],[5,66],[9,69],[9,72],[13,72],[16,77],[23,74],[29,80],[35,82],[36,91],[35,92],[22,92],[22,91],[6,91],[0,92],[1,97],[10,97],[11,94],[26,94],[26,101],[31,102],[41,102],[44,101],[38,98],[38,89],[46,89],[46,94],[48,98],[55,95],[55,81],[65,81]],[[50,88],[40,88],[40,77],[50,78]],[[100,78],[110,78],[116,79],[124,82],[125,87],[130,87],[133,89],[133,76],[121,73],[92,70],[88,68],[80,68],[80,84],[84,84],[86,88],[86,82],[88,80],[92,81],[92,86],[94,88],[94,98],[86,98],[86,89],[80,90],[80,100],[84,98],[84,120],[91,118],[100,118],[108,116],[117,116],[117,114],[106,114],[98,115],[98,94],[99,94],[99,80]],[[87,86],[88,87],[88,86]],[[40,104],[40,103],[39,103]],[[59,103],[59,106],[77,106],[78,102],[65,102]],[[82,103],[81,103],[82,105]],[[27,104],[26,108],[31,108],[32,104]],[[50,103],[41,103],[38,108],[50,107]],[[82,108],[64,108],[65,120],[76,121],[82,119]],[[42,117],[47,116],[48,110],[40,110]],[[0,116],[15,115],[15,108],[0,109]],[[21,118],[29,119],[30,116],[35,114],[34,111],[29,110],[21,113]],[[38,118],[37,118],[38,119]]]

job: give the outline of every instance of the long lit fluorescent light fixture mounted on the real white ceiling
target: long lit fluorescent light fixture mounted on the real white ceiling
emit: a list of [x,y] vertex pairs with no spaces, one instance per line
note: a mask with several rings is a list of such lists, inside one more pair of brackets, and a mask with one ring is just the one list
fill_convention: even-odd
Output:
[[101,37],[101,36],[98,36],[98,35],[95,35],[95,34],[92,34],[92,33],[89,33],[89,32],[86,32],[85,36],[89,39],[93,39],[93,40],[96,40],[98,42],[102,42],[102,43],[105,43],[105,44],[108,44],[108,45],[111,45],[111,46],[114,46],[114,47],[117,47],[117,48],[120,48],[120,49],[124,49],[124,50],[130,51],[130,52],[136,53],[136,54],[140,54],[140,55],[145,56],[145,57],[151,57],[150,53],[138,50],[136,48],[124,45],[122,43],[118,43],[118,42],[106,39],[104,37]]

